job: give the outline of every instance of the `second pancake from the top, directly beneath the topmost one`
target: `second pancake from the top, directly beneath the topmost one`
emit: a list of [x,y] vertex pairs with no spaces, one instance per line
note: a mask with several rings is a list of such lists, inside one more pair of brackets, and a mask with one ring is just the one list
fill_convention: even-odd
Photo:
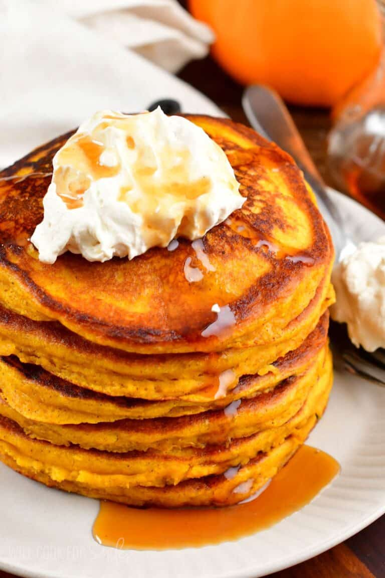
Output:
[[334,302],[329,276],[304,312],[268,346],[135,355],[99,346],[60,324],[32,321],[0,306],[0,355],[17,355],[25,363],[41,365],[70,383],[102,394],[152,400],[195,394],[189,401],[205,401],[218,391],[223,372],[233,372],[231,389],[242,375],[266,372],[266,366],[301,346]]

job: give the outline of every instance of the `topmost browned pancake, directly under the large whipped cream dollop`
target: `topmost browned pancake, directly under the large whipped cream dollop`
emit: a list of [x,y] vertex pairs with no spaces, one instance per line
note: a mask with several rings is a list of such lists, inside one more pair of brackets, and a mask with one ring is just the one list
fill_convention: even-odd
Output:
[[[67,134],[0,173],[0,302],[35,320],[57,320],[95,343],[136,353],[219,351],[256,339],[269,343],[293,321],[333,257],[300,170],[252,129],[225,119],[187,118],[225,151],[246,197],[240,210],[203,238],[215,271],[207,271],[183,239],[174,251],[155,248],[132,261],[90,263],[66,253],[54,265],[41,263],[28,239],[42,221],[47,173]],[[203,273],[199,282],[185,277],[188,257]],[[215,303],[225,308],[219,316],[211,310]]]

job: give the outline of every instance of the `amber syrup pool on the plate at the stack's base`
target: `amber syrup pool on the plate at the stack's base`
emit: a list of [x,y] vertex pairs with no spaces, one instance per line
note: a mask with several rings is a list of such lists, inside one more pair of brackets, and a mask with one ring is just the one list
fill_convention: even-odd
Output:
[[[227,479],[236,475],[235,469],[225,472]],[[179,510],[137,509],[100,502],[92,531],[99,544],[127,550],[200,547],[237,540],[300,510],[338,472],[339,464],[330,455],[311,446],[302,446],[270,484],[261,488],[264,491],[257,492],[251,501],[246,499],[237,506],[223,508]]]

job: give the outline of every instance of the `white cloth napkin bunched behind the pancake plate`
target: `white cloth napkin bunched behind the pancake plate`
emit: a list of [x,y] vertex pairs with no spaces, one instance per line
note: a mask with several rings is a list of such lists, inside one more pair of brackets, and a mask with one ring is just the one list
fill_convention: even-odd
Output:
[[203,57],[213,38],[176,0],[0,0],[0,167],[100,109],[172,97],[218,114],[158,68]]

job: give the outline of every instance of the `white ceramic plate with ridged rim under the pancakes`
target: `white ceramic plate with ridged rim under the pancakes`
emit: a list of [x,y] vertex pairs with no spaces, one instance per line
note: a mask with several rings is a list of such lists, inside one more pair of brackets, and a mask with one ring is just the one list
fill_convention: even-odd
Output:
[[[333,193],[352,231],[385,224]],[[97,501],[50,490],[0,465],[0,568],[39,578],[256,578],[342,542],[385,512],[385,388],[337,373],[309,443],[334,456],[341,475],[309,505],[266,531],[201,549],[128,551],[91,535]],[[165,532],[167,528],[165,528]]]

